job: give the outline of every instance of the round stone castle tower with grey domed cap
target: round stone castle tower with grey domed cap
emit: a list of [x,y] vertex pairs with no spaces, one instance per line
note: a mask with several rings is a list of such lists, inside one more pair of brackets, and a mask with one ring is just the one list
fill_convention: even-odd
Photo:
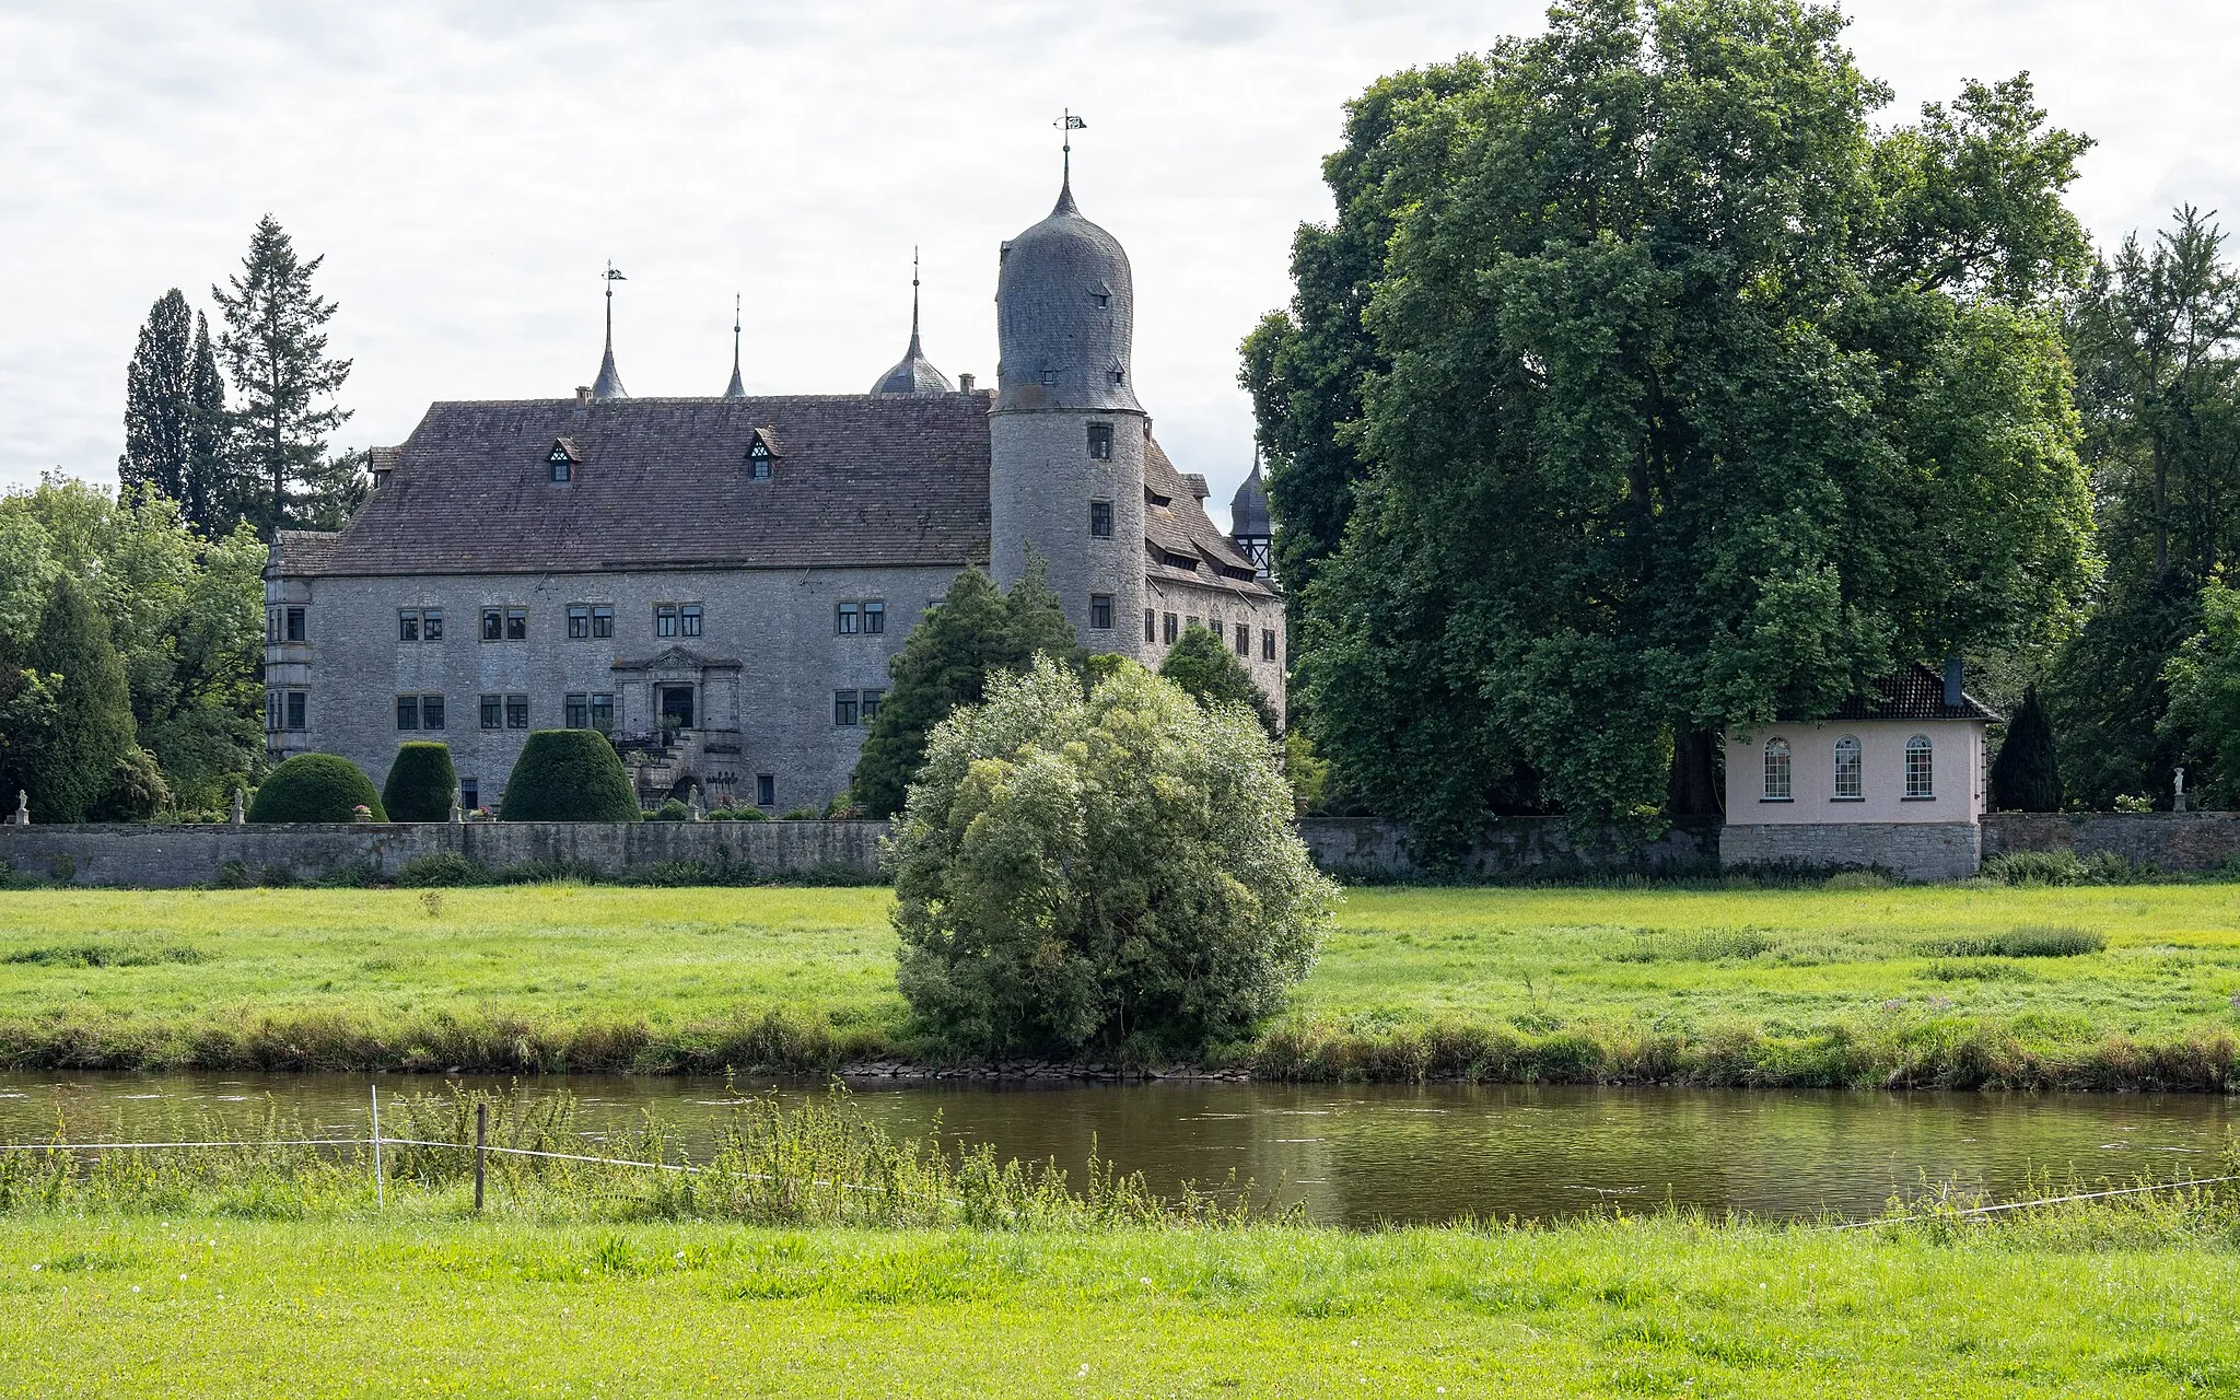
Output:
[[997,394],[988,421],[990,564],[1001,585],[1028,549],[1091,652],[1142,652],[1142,448],[1129,345],[1136,282],[1120,240],[1057,208],[1004,244]]

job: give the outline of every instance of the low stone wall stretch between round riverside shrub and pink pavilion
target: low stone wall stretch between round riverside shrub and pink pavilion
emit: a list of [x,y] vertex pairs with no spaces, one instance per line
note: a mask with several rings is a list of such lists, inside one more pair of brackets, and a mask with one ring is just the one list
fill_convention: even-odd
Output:
[[[1315,865],[1355,880],[1409,880],[1422,865],[1407,829],[1382,818],[1308,818],[1299,836]],[[1561,818],[1503,818],[1458,874],[1478,880],[1572,880],[1593,876],[1693,876],[1718,871],[1718,822],[1676,822],[1653,842],[1628,847],[1615,831],[1575,833]]]

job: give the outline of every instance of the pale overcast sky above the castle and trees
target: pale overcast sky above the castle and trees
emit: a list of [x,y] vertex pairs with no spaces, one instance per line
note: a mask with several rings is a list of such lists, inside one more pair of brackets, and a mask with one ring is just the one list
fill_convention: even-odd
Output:
[[[860,392],[909,329],[995,376],[997,244],[1048,213],[1064,105],[1082,211],[1136,267],[1136,385],[1219,506],[1250,464],[1236,340],[1288,296],[1340,103],[1541,25],[1537,0],[466,4],[0,0],[0,486],[114,484],[148,305],[202,309],[271,211],[340,302],[338,441],[432,399],[562,396],[598,367],[607,258],[634,394]],[[1886,121],[2029,69],[2090,132],[2097,237],[2240,211],[2240,7],[1846,4]],[[2240,217],[2240,215],[2236,215]]]

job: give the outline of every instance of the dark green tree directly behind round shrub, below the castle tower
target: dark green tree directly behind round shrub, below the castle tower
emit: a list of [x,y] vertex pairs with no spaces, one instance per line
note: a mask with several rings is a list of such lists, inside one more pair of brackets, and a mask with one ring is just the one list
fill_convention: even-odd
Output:
[[1035,656],[1077,665],[1080,650],[1039,558],[1028,556],[1008,596],[965,569],[887,665],[894,688],[865,735],[849,795],[874,818],[903,811],[936,724],[956,706],[977,706],[990,676],[1026,670]]

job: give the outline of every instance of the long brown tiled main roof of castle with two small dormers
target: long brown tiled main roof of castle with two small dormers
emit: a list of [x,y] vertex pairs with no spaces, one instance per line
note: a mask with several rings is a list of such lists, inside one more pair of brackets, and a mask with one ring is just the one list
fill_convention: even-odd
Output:
[[[757,430],[784,444],[759,482]],[[325,540],[282,535],[278,571],[959,567],[988,558],[988,394],[437,403]]]

